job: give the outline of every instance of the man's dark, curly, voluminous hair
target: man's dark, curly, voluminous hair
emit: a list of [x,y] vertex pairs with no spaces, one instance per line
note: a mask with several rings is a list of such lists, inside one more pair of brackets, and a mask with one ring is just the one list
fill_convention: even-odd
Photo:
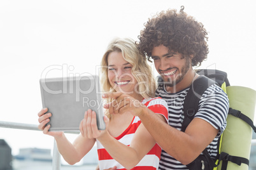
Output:
[[183,10],[184,6],[181,6],[180,13],[176,10],[162,11],[144,24],[145,29],[141,30],[136,43],[150,62],[153,47],[161,44],[185,57],[193,55],[192,66],[199,66],[206,60],[208,33],[201,22]]

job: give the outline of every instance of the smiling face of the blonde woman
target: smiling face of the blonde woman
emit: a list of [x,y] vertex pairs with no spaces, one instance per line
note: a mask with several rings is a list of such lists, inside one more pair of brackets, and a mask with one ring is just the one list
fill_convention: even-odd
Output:
[[108,55],[108,81],[116,91],[136,95],[138,82],[132,75],[131,63],[124,60],[121,52],[113,51]]

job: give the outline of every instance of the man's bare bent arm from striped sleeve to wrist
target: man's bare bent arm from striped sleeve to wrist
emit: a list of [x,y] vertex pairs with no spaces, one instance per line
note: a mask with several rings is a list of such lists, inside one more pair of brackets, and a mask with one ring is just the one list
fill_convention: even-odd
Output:
[[147,108],[138,116],[160,147],[185,165],[196,159],[218,133],[218,129],[199,118],[193,119],[183,133],[165,124]]

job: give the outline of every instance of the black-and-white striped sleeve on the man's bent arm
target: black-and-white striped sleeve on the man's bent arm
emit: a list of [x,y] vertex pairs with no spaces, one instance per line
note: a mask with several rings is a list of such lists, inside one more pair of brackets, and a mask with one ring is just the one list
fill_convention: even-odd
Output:
[[227,126],[227,114],[229,112],[229,99],[227,94],[216,84],[210,86],[204,92],[199,101],[199,110],[195,117],[209,122],[218,129],[220,136]]

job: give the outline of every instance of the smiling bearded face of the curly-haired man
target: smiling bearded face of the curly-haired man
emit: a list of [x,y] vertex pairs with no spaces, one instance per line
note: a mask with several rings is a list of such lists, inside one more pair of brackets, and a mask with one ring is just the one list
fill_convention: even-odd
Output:
[[170,87],[182,81],[191,67],[190,58],[183,57],[181,53],[169,52],[169,49],[164,45],[153,48],[152,59],[155,63],[155,69],[164,79],[164,84]]

